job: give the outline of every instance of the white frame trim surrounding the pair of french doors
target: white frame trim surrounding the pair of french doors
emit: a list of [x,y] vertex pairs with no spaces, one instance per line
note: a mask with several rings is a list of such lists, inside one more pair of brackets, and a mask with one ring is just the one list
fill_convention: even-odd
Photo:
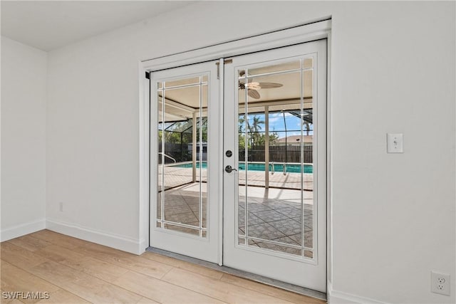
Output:
[[[291,46],[297,43],[306,43],[317,39],[326,38],[328,40],[328,65],[327,65],[327,153],[328,153],[328,177],[327,189],[328,205],[327,212],[327,234],[328,234],[328,281],[332,281],[331,265],[332,265],[332,231],[331,231],[331,20],[319,21],[310,23],[304,26],[296,26],[293,28],[282,29],[271,33],[264,33],[258,36],[242,38],[236,41],[217,44],[206,48],[198,48],[196,50],[187,51],[185,53],[177,53],[170,56],[153,58],[144,60],[139,63],[138,77],[140,79],[140,94],[139,94],[139,121],[140,121],[140,205],[139,205],[139,248],[138,253],[143,253],[149,244],[149,130],[150,130],[150,88],[149,80],[145,78],[145,73],[163,70],[166,68],[175,68],[177,66],[188,65],[192,63],[200,63],[204,61],[217,60],[219,58],[229,58],[231,56],[243,55],[257,51],[264,51],[271,48],[279,48],[283,46]],[[220,65],[222,66],[222,65]],[[220,75],[223,75],[221,70]],[[223,81],[223,77],[220,77]],[[221,95],[221,102],[223,96]],[[222,144],[222,141],[221,141]],[[221,221],[220,221],[221,222]],[[219,263],[222,257],[222,238],[219,238]]]

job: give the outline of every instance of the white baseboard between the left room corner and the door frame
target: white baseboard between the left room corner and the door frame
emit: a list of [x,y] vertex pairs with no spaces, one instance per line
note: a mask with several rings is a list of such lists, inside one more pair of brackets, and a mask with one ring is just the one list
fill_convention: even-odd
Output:
[[138,255],[143,253],[147,247],[145,240],[131,239],[117,234],[108,234],[103,231],[96,231],[95,229],[53,219],[46,219],[46,229]]

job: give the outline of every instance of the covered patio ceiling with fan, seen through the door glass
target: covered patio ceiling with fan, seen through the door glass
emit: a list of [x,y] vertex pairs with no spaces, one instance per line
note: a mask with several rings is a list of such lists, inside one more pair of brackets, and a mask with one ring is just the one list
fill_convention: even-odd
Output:
[[[299,111],[301,108],[301,94],[304,98],[304,109],[313,107],[314,70],[312,58],[285,59],[276,63],[259,63],[247,69],[247,83],[262,84],[277,83],[278,88],[256,88],[259,97],[252,98],[247,94],[247,107],[249,113],[264,112],[267,106],[269,112]],[[301,74],[302,72],[302,74]],[[245,70],[238,70],[239,83],[245,83]],[[201,91],[199,83],[201,80]],[[160,80],[152,85],[157,88],[159,120],[162,117],[162,95],[165,94],[165,122],[187,120],[194,114],[199,115],[200,102],[203,117],[207,116],[207,76],[192,76],[190,78],[172,78],[165,81],[164,91]],[[239,114],[245,112],[246,91],[242,87],[238,91]],[[249,89],[250,90],[250,89]],[[199,94],[202,93],[201,100]]]

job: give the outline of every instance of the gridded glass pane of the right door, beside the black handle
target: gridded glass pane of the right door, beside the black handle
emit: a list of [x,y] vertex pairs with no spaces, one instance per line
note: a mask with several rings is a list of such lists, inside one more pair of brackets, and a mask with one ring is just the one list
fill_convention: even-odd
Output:
[[237,73],[238,243],[313,258],[312,58]]

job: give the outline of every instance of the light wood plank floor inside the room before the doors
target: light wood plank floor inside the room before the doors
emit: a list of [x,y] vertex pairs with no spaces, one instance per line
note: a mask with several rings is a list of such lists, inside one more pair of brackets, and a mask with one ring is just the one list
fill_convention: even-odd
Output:
[[[131,253],[49,230],[0,243],[1,303],[312,303],[304,295],[155,253]],[[4,292],[48,292],[5,300]]]

